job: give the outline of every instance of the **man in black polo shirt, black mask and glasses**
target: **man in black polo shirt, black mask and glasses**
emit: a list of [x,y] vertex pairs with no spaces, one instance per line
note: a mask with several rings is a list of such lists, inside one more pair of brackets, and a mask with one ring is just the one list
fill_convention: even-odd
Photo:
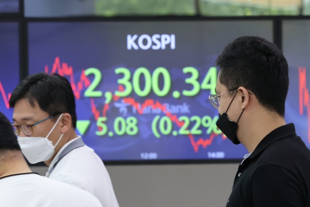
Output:
[[288,65],[274,44],[240,37],[217,57],[217,127],[249,154],[227,207],[310,207],[310,151],[284,121]]

